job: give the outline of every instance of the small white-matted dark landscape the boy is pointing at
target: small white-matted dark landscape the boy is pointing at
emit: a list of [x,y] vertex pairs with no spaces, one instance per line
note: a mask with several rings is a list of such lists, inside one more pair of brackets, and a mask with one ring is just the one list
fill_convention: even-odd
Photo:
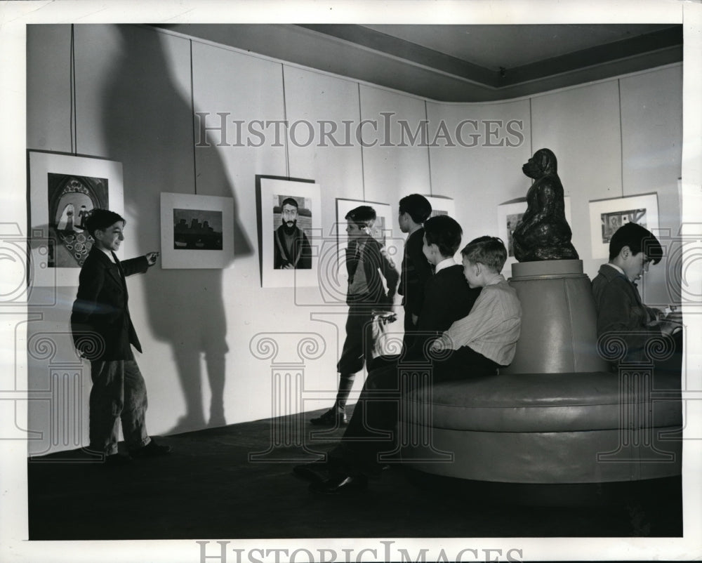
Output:
[[234,200],[161,193],[161,267],[225,268],[234,258]]

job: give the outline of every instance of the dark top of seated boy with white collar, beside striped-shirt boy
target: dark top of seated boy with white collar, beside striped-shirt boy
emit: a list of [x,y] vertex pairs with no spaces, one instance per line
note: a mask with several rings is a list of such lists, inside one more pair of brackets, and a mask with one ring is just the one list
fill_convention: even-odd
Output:
[[454,321],[468,317],[480,289],[468,285],[460,264],[439,270],[430,277],[424,286],[424,305],[417,322],[418,336],[405,359],[424,357],[428,340],[448,330]]

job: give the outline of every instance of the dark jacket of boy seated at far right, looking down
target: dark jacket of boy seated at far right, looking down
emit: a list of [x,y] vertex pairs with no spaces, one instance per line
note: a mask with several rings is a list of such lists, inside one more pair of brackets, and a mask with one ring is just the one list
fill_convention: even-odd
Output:
[[634,284],[603,264],[592,280],[592,295],[597,309],[597,336],[618,333],[628,347],[628,359],[642,359],[647,339],[661,336],[661,329],[647,326],[656,319],[655,312],[642,303]]

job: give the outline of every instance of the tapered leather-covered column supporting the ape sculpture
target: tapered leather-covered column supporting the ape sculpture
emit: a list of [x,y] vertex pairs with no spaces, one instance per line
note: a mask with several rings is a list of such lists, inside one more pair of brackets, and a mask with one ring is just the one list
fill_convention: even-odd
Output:
[[501,373],[609,371],[597,354],[597,313],[582,260],[512,265],[510,286],[522,303],[522,333]]

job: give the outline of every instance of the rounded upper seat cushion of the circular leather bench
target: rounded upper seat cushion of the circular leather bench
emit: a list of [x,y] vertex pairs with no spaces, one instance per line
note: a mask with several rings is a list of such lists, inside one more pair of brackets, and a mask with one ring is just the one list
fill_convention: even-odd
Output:
[[[656,377],[654,400],[616,373],[536,373],[449,381],[432,388],[433,428],[486,432],[578,432],[621,428],[623,410],[651,410],[639,426],[680,425],[680,379]],[[626,393],[624,405],[620,387]],[[410,401],[416,399],[408,399]],[[416,408],[409,407],[412,411]]]

